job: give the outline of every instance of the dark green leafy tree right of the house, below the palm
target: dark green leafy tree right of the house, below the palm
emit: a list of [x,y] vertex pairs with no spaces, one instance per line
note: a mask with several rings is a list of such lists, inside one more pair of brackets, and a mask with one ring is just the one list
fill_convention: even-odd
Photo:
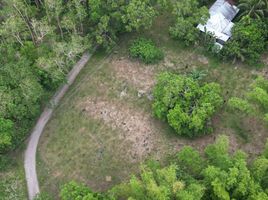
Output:
[[258,63],[265,50],[267,30],[263,21],[243,18],[232,29],[232,38],[224,45],[222,56],[252,65]]

